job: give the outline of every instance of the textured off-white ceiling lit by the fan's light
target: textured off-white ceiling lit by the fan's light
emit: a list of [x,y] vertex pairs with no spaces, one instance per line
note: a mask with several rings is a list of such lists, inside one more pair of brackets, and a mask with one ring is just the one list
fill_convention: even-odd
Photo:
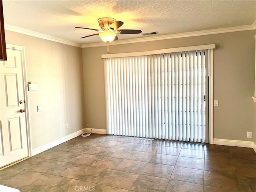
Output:
[[[3,0],[4,22],[80,44],[101,42],[99,36],[80,39],[96,31],[98,18],[124,22],[120,29],[166,35],[251,25],[256,20],[256,0]],[[143,38],[118,34],[118,38]]]

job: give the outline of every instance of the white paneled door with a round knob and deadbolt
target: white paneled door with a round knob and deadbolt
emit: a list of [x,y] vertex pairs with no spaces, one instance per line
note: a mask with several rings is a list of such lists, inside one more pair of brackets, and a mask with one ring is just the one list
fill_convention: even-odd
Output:
[[0,62],[0,167],[28,157],[26,111],[20,50],[7,49]]

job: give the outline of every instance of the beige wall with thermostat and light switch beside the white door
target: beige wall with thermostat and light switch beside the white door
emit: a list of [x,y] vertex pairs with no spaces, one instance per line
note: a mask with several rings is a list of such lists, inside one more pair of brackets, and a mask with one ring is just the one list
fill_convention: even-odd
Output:
[[6,43],[25,47],[27,81],[38,84],[28,92],[32,150],[81,130],[82,48],[10,31]]

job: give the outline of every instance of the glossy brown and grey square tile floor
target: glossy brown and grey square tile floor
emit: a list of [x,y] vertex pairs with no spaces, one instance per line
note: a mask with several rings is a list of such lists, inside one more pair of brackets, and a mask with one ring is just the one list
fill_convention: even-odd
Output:
[[78,136],[0,172],[21,192],[256,192],[252,148]]

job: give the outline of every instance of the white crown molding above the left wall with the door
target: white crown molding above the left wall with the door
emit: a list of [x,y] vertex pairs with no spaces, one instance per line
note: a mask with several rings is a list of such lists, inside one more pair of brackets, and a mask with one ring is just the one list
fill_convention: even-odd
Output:
[[4,24],[4,29],[8,30],[8,31],[12,31],[12,32],[17,32],[17,33],[21,33],[21,34],[25,34],[25,35],[29,35],[29,36],[33,36],[33,37],[38,37],[38,38],[42,38],[42,39],[62,43],[62,44],[67,44],[67,45],[80,47],[80,48],[82,47],[81,44],[76,43],[76,42],[72,42],[72,41],[69,41],[69,40],[65,40],[65,39],[61,39],[61,38],[58,38],[58,37],[50,36],[50,35],[47,35],[47,34],[44,34],[44,33],[39,33],[39,32],[36,32],[36,31],[28,30],[28,29],[25,29],[25,28],[16,27],[16,26],[9,25],[9,24]]

